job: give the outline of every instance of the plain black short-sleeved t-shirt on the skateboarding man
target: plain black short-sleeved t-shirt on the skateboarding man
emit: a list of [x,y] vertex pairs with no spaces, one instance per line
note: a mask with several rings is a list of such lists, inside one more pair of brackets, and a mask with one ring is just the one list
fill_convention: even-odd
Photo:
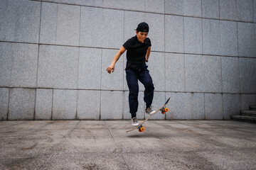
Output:
[[146,60],[146,52],[151,46],[151,41],[146,38],[144,42],[139,42],[137,35],[124,42],[123,47],[127,50],[127,67],[135,71],[142,69]]

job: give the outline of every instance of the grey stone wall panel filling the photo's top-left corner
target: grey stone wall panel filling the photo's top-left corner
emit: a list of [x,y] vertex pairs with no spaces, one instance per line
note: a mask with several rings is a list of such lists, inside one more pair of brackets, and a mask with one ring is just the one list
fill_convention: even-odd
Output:
[[38,43],[40,8],[38,1],[1,1],[0,40]]

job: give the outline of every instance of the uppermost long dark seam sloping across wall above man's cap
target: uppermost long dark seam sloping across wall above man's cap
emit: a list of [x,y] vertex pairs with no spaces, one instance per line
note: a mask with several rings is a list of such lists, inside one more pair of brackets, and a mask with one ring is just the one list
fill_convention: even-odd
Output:
[[81,6],[81,7],[90,7],[90,8],[102,8],[102,9],[112,9],[112,10],[118,10],[118,11],[130,11],[130,12],[140,12],[140,13],[153,13],[153,14],[161,14],[161,15],[168,15],[168,16],[183,16],[183,17],[190,17],[190,18],[202,18],[202,19],[212,19],[212,20],[220,20],[220,21],[236,21],[236,22],[242,22],[242,23],[255,23],[254,21],[239,21],[239,20],[228,20],[228,19],[220,19],[220,18],[206,18],[206,17],[198,17],[198,16],[185,16],[185,15],[178,15],[175,13],[156,13],[151,11],[138,11],[138,10],[132,10],[132,9],[124,9],[124,8],[108,8],[103,6],[90,6],[90,5],[81,5],[81,4],[68,4],[68,3],[62,3],[62,2],[53,2],[53,1],[41,1],[44,3],[50,3],[50,4],[63,4],[63,5],[70,5],[70,6]]

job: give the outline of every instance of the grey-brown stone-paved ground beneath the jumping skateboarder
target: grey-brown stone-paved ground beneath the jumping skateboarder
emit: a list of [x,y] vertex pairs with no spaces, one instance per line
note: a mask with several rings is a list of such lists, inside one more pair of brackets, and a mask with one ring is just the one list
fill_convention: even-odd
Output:
[[0,169],[256,169],[256,124],[2,121]]

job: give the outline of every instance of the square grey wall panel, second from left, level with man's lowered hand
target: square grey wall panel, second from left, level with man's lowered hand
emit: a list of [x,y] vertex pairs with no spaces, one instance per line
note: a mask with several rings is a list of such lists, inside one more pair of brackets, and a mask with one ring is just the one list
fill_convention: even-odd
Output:
[[41,45],[38,82],[41,88],[78,88],[78,47]]

